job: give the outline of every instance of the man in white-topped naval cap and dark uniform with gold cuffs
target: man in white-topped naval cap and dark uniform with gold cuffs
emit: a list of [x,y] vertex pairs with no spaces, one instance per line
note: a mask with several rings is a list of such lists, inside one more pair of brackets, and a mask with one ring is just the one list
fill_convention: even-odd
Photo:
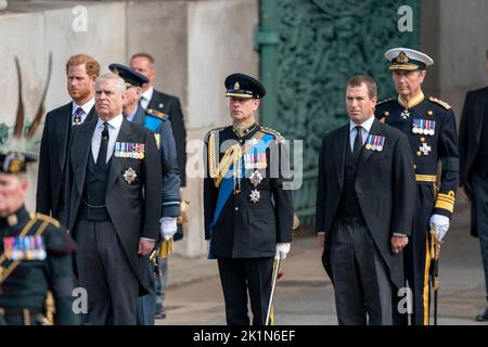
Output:
[[[425,98],[422,82],[433,60],[422,52],[396,48],[385,57],[398,92],[397,100],[376,105],[376,117],[409,137],[416,179],[415,216],[404,252],[406,279],[413,294],[412,324],[428,324],[429,266],[435,236],[441,241],[449,229],[459,178],[455,117],[451,107],[436,98]],[[437,165],[442,164],[440,180]],[[432,230],[433,234],[429,232]],[[402,322],[407,322],[404,316]]]

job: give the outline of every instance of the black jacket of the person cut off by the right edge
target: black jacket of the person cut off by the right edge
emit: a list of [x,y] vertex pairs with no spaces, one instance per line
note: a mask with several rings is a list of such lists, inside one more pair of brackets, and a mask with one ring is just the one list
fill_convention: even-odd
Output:
[[[473,166],[478,154],[483,121],[488,112],[488,87],[467,92],[459,130],[460,187],[473,200]],[[474,205],[472,206],[471,233],[477,236]]]

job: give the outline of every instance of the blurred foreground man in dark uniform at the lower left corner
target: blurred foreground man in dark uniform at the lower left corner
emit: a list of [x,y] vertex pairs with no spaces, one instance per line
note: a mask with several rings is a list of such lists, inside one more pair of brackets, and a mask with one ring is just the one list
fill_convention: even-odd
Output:
[[24,174],[36,156],[9,145],[8,132],[0,124],[0,325],[78,324],[74,243],[55,219],[26,210]]

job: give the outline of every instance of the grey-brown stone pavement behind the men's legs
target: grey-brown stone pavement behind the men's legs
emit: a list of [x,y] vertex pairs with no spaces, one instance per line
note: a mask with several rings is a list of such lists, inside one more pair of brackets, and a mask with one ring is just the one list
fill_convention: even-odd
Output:
[[[485,284],[477,239],[470,236],[470,211],[460,204],[439,266],[439,324],[485,324],[474,321],[485,305]],[[321,249],[310,231],[301,230],[283,262],[284,278],[275,295],[277,324],[337,324],[334,292],[321,265]],[[172,256],[167,319],[157,324],[224,324],[223,298],[216,260]]]

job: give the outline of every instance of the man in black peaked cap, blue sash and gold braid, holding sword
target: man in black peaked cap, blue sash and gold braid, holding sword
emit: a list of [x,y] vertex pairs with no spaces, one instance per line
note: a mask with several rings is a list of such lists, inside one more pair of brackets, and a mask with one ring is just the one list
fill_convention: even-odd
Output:
[[224,85],[233,124],[210,130],[205,140],[205,240],[209,258],[218,261],[227,323],[249,324],[248,293],[253,324],[260,325],[273,257],[284,259],[292,241],[292,192],[282,169],[288,157],[283,138],[255,120],[264,86],[243,74],[228,76]]

